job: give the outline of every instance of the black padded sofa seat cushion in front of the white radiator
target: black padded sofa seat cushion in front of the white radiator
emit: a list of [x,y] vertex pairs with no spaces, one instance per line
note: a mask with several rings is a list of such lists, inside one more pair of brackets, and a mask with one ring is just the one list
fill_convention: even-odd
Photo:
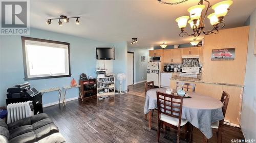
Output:
[[8,124],[8,127],[10,142],[35,142],[58,132],[58,127],[45,113]]

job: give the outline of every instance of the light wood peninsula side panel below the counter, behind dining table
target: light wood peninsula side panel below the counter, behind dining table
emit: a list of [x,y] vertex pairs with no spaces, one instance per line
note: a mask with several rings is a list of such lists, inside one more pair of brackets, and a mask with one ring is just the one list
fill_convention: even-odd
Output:
[[[203,83],[203,82],[189,82],[182,80],[170,80],[170,88],[176,89],[176,82],[186,82],[196,84],[196,93],[200,93],[205,96],[214,97],[218,100],[221,99],[221,94],[226,91],[231,97],[227,106],[225,121],[232,125],[240,125],[241,109],[242,109],[242,98],[243,98],[243,87],[232,86],[232,85],[221,85],[214,83]],[[192,97],[193,98],[193,97]]]

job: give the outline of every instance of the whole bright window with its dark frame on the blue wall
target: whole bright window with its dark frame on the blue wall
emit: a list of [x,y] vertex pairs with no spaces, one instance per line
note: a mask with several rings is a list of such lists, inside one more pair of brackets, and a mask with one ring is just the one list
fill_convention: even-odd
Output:
[[67,77],[69,43],[22,37],[25,80]]

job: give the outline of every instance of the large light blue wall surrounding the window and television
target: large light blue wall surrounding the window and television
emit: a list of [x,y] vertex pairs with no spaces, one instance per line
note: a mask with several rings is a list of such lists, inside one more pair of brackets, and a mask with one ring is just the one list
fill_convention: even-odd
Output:
[[[78,82],[79,75],[86,73],[96,77],[96,47],[116,47],[116,60],[113,64],[115,72],[126,73],[125,54],[127,53],[127,43],[106,43],[99,42],[69,35],[63,35],[48,31],[42,31],[32,28],[29,37],[49,39],[56,41],[63,41],[70,43],[70,62],[71,74]],[[0,38],[0,106],[5,105],[7,88],[15,84],[23,83],[24,68],[23,68],[23,54],[22,41],[20,36],[1,36]],[[126,51],[125,51],[126,50]],[[31,87],[37,90],[49,89],[53,87],[62,87],[69,85],[72,77],[51,78],[30,80]],[[125,85],[124,85],[125,86]],[[67,98],[78,97],[78,90],[71,89],[67,92]],[[57,93],[44,94],[42,99],[43,104],[58,101]]]

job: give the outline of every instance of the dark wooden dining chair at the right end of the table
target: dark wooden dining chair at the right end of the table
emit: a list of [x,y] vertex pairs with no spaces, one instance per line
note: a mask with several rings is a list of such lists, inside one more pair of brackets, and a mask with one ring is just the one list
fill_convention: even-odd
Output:
[[[222,112],[223,112],[224,117],[226,115],[229,97],[230,96],[228,93],[226,93],[225,91],[222,92],[221,102],[223,103]],[[218,131],[217,131],[217,142],[218,143],[222,142],[223,125],[224,125],[224,119],[211,124],[211,128],[218,129]],[[204,137],[204,142],[207,142],[207,141],[208,141],[208,139],[206,137]]]

